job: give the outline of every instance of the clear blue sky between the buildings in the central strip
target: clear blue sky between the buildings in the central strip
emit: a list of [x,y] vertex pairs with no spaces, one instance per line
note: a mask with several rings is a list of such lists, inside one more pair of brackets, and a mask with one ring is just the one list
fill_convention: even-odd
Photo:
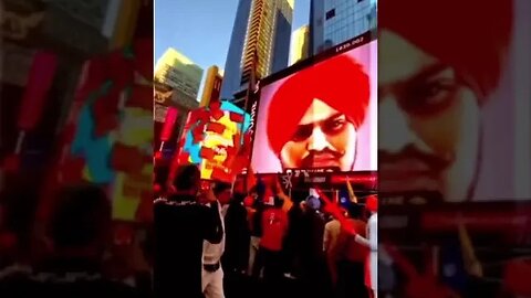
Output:
[[[156,0],[155,62],[174,47],[204,70],[225,68],[239,0]],[[308,24],[311,0],[295,0],[292,30]],[[199,88],[199,97],[204,82]]]

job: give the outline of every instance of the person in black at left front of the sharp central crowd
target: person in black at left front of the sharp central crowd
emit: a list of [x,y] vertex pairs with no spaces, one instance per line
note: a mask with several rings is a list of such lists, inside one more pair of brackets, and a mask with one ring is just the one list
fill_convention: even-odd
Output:
[[204,241],[218,244],[223,236],[219,205],[211,188],[200,192],[196,166],[177,168],[170,181],[167,199],[155,201],[155,297],[199,298]]

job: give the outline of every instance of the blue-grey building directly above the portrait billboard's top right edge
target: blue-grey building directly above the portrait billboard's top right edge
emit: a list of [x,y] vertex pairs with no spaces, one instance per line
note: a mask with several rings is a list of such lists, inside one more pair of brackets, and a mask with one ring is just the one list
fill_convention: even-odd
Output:
[[377,0],[312,0],[312,54],[376,29]]

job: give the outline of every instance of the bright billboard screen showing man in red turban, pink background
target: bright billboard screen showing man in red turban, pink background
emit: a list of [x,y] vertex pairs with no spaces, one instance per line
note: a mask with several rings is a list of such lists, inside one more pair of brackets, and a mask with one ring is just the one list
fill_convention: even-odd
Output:
[[377,41],[261,86],[251,166],[377,170]]

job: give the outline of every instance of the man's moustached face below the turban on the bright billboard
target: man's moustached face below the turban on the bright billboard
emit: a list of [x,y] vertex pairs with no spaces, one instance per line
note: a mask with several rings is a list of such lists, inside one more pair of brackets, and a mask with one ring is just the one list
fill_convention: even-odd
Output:
[[350,171],[354,166],[356,137],[354,125],[344,114],[315,98],[280,151],[282,167],[339,167]]

